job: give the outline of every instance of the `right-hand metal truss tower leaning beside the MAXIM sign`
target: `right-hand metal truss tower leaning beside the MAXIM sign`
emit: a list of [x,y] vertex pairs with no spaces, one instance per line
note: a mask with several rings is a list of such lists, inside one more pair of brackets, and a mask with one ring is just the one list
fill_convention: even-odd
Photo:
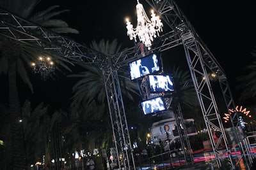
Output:
[[[195,29],[189,23],[188,19],[185,17],[182,11],[180,11],[175,1],[168,0],[147,2],[150,4],[150,6],[152,6],[152,8],[158,11],[159,15],[161,15],[161,18],[172,29],[174,34],[173,37],[175,37],[175,40],[179,39],[179,43],[184,46],[189,71],[191,73],[193,85],[195,87],[198,101],[201,106],[205,125],[207,127],[207,131],[209,132],[209,138],[211,140],[217,166],[222,166],[221,157],[223,156],[223,153],[221,152],[220,143],[223,141],[225,150],[227,151],[226,153],[228,155],[227,162],[230,164],[230,169],[235,169],[236,163],[232,158],[231,149],[228,146],[227,136],[223,127],[223,122],[221,120],[221,115],[223,113],[221,114],[220,106],[218,106],[216,103],[211,81],[209,80],[209,75],[212,73],[217,75],[218,81],[220,83],[220,89],[224,97],[223,100],[227,107],[225,111],[229,113],[228,108],[235,108],[235,104],[230,92],[230,87],[228,86],[227,77],[223,69],[221,68],[220,64],[218,64],[217,60],[214,58],[207,46],[203,43],[202,39],[200,39],[198,34],[196,34]],[[231,120],[232,127],[234,128],[236,136],[243,136],[243,132],[236,130],[239,129],[239,124],[234,124],[234,122],[237,122],[237,120],[237,114],[234,114]],[[221,136],[217,142],[214,141],[211,130],[212,127],[221,132]],[[247,145],[240,145],[243,160],[246,162],[246,155],[249,155],[249,159],[252,160],[252,157],[250,157],[250,152],[248,152],[248,150],[243,150],[243,146],[246,148]],[[249,167],[250,163],[247,164],[247,166]]]

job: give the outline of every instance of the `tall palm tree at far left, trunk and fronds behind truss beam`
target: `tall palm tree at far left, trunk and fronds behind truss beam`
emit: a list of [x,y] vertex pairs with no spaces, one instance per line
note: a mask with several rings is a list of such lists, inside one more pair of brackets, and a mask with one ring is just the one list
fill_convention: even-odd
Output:
[[[1,8],[11,11],[19,17],[25,18],[31,22],[34,22],[42,27],[49,28],[51,31],[57,33],[78,33],[76,29],[68,27],[67,23],[62,20],[53,19],[56,15],[67,10],[55,11],[58,6],[51,6],[47,10],[35,13],[36,5],[40,1],[38,0],[2,0],[0,1]],[[26,153],[24,148],[24,136],[22,132],[22,124],[19,122],[22,116],[20,113],[20,101],[17,88],[17,75],[21,80],[28,85],[31,92],[33,87],[29,80],[26,66],[36,60],[36,56],[39,53],[38,49],[33,46],[22,44],[10,38],[0,39],[0,73],[8,74],[9,85],[9,107],[10,107],[10,124],[11,124],[11,138],[12,138],[12,150],[10,151],[12,161],[9,167],[10,169],[25,169],[26,168]],[[42,52],[42,51],[41,51]],[[60,60],[60,64],[63,64]],[[65,64],[63,65],[64,67]],[[67,68],[67,67],[66,67]]]

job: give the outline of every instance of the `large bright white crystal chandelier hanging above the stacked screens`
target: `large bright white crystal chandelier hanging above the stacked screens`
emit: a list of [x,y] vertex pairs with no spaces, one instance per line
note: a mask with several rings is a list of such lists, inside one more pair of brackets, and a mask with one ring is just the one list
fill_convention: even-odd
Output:
[[138,0],[137,2],[137,27],[136,29],[134,29],[131,22],[129,22],[129,20],[127,19],[127,35],[130,37],[131,40],[134,39],[135,42],[137,42],[136,36],[138,36],[140,41],[142,41],[142,43],[144,43],[145,46],[147,46],[148,50],[150,50],[153,38],[159,36],[159,32],[163,31],[163,23],[161,22],[159,17],[156,16],[153,10],[151,14],[151,20],[149,20],[142,4],[139,3]]

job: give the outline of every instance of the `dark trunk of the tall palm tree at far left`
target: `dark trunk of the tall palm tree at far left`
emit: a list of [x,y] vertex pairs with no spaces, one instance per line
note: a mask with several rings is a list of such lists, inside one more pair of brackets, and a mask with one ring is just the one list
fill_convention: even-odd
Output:
[[10,104],[10,122],[11,122],[11,164],[13,170],[26,169],[26,152],[24,148],[24,134],[22,127],[21,109],[19,94],[17,90],[17,69],[13,53],[8,55],[8,81],[9,81],[9,104]]

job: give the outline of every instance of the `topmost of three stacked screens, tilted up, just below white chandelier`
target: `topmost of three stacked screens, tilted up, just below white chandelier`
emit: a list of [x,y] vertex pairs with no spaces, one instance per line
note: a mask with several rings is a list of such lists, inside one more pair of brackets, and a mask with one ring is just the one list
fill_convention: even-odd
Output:
[[156,53],[129,62],[131,80],[160,71],[159,58]]

